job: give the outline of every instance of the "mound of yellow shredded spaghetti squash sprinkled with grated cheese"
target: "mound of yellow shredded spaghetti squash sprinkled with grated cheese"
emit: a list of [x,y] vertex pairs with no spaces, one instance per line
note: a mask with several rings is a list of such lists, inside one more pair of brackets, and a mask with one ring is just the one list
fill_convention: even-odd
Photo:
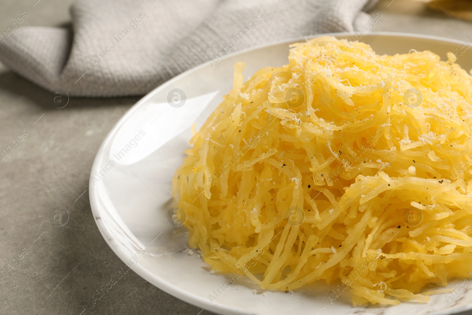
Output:
[[206,263],[262,289],[340,280],[355,305],[428,301],[444,290],[425,285],[470,277],[472,77],[459,65],[325,36],[246,82],[243,69],[173,179]]

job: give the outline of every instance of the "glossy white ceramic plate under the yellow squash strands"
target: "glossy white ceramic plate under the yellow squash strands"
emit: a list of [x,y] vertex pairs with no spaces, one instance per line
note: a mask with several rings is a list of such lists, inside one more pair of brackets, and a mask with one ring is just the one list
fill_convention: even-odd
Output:
[[[334,34],[346,38],[347,33]],[[175,204],[170,188],[174,171],[188,148],[190,128],[197,128],[228,94],[233,84],[233,64],[246,63],[244,77],[262,66],[278,67],[288,62],[288,45],[304,38],[275,43],[226,56],[216,65],[205,63],[160,85],[137,102],[110,131],[93,163],[90,178],[90,203],[103,238],[124,262],[156,287],[188,303],[219,314],[315,315],[315,314],[457,314],[472,309],[469,286],[453,295],[435,295],[427,304],[405,302],[399,306],[353,307],[349,290],[333,304],[327,293],[337,283],[316,282],[291,293],[265,291],[241,277],[225,289],[230,275],[210,274],[211,268],[189,255],[186,229],[168,221],[168,210]],[[444,38],[396,34],[365,34],[361,41],[379,53],[406,53],[410,49],[430,50],[446,58],[447,51],[459,51],[463,42]],[[457,63],[472,68],[472,53],[458,56]],[[180,92],[181,107],[172,107],[170,98]],[[100,174],[101,173],[101,174]],[[99,175],[97,175],[99,174]],[[157,237],[157,238],[156,238]],[[463,283],[453,281],[450,287]],[[225,289],[220,289],[220,286]],[[226,285],[228,287],[228,285]],[[464,285],[463,285],[464,287]],[[257,294],[253,294],[257,289]],[[217,297],[214,290],[219,290]],[[265,294],[264,294],[265,293]]]

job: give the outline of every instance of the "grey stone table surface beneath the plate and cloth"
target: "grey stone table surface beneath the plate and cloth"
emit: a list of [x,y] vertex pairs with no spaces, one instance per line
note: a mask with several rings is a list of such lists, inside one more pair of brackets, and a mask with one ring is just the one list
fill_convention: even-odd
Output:
[[[22,26],[67,26],[71,2],[1,0],[0,33],[22,12],[28,13]],[[433,12],[420,2],[381,0],[371,13],[376,12],[382,17],[374,31],[462,41],[472,35],[472,23]],[[56,109],[53,97],[0,64],[0,151],[27,133],[0,162],[0,270],[8,269],[0,275],[0,314],[211,314],[133,271],[94,304],[96,290],[125,264],[93,220],[90,169],[101,139],[139,98],[71,98],[65,108]],[[69,213],[61,227],[49,220],[56,206]],[[22,259],[14,261],[17,255]]]

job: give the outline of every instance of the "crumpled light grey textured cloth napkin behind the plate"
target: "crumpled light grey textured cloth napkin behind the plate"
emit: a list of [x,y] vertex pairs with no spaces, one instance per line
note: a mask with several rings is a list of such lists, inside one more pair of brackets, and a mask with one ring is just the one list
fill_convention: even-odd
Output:
[[154,1],[78,0],[71,7],[72,33],[20,27],[18,19],[16,28],[0,34],[0,60],[35,84],[71,96],[140,95],[227,53],[304,35],[360,31],[370,21],[362,10],[375,2]]

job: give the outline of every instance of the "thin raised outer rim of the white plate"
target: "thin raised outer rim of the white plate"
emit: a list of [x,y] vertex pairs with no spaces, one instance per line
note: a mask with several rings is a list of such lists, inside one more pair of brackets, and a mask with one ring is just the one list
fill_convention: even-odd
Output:
[[[271,43],[266,43],[258,46],[254,46],[251,48],[246,48],[240,51],[235,51],[228,53],[227,55],[223,56],[222,59],[229,59],[232,57],[235,57],[237,55],[242,55],[250,51],[255,51],[263,48],[269,48],[270,46],[275,46],[275,45],[280,45],[283,43],[296,43],[296,42],[303,42],[307,39],[312,39],[315,37],[320,37],[320,36],[349,36],[349,35],[355,35],[358,34],[356,32],[337,32],[337,33],[321,33],[321,34],[312,34],[308,36],[299,36],[299,37],[292,37],[292,38],[287,38],[284,40],[280,41],[275,41]],[[470,43],[470,42],[465,42],[465,41],[460,41],[456,39],[451,39],[447,37],[441,37],[441,36],[435,36],[435,35],[426,35],[426,34],[415,34],[415,33],[402,33],[402,32],[368,32],[363,35],[379,35],[379,36],[392,36],[392,37],[410,37],[410,38],[421,38],[421,39],[430,39],[430,40],[435,40],[435,41],[441,41],[441,42],[447,42],[447,43],[455,43],[455,44],[464,44],[464,43]],[[362,36],[363,36],[362,35]],[[110,137],[120,128],[120,126],[128,119],[140,106],[145,104],[152,96],[154,96],[156,93],[158,93],[161,89],[166,88],[168,85],[172,85],[175,81],[179,80],[181,77],[187,76],[189,73],[194,72],[195,70],[208,67],[208,62],[205,61],[202,64],[195,66],[193,68],[190,68],[180,74],[178,74],[175,77],[172,77],[168,81],[162,83],[161,85],[155,87],[150,91],[149,93],[145,94],[139,101],[137,101],[133,106],[131,106],[124,114],[123,116],[118,119],[118,121],[113,125],[113,127],[110,129],[108,132],[107,136],[104,138],[102,144],[100,145],[100,148],[98,149],[97,153],[95,154],[95,158],[93,159],[93,164],[92,168],[90,171],[90,177],[89,177],[89,200],[90,200],[90,207],[92,210],[93,214],[93,220],[95,221],[95,224],[97,225],[98,230],[101,233],[101,236],[105,239],[107,242],[108,246],[111,248],[111,250],[118,256],[118,258],[124,262],[127,263],[128,259],[126,252],[116,243],[117,245],[113,244],[111,240],[113,240],[113,237],[110,235],[110,233],[107,231],[107,228],[105,227],[105,224],[101,220],[100,217],[100,212],[97,207],[97,196],[95,193],[94,185],[93,185],[93,177],[94,177],[94,172],[96,170],[100,170],[100,165],[99,162],[101,160],[101,157],[103,156],[103,152],[105,150],[105,147],[109,144],[110,142]],[[98,219],[97,219],[98,218]],[[99,220],[100,219],[100,220]],[[186,303],[189,303],[194,306],[199,306],[202,307],[206,310],[209,310],[211,312],[217,313],[217,314],[234,314],[234,315],[257,315],[256,313],[248,313],[246,311],[237,309],[232,306],[227,306],[223,304],[211,304],[207,299],[195,296],[192,293],[189,293],[188,291],[185,291],[184,289],[177,288],[170,284],[168,281],[164,281],[161,278],[157,277],[154,275],[152,272],[148,271],[145,269],[141,264],[136,264],[135,266],[131,266],[131,269],[133,269],[134,272],[136,272],[140,277],[142,277],[145,281],[148,281],[155,287],[163,290],[164,292],[179,298]],[[150,280],[152,279],[152,281]],[[468,306],[461,306],[458,307],[454,310],[445,310],[443,312],[437,313],[437,315],[453,315],[453,314],[459,314],[464,311],[468,311],[472,309],[472,303]]]

